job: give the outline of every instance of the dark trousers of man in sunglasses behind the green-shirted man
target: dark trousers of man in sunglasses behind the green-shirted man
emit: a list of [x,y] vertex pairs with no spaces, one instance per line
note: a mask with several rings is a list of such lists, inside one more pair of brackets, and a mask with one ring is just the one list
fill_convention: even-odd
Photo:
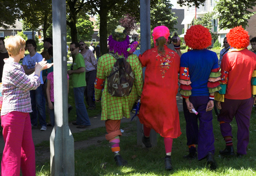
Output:
[[93,101],[94,95],[94,82],[96,79],[96,70],[88,71],[85,73],[86,88],[84,91],[85,101],[88,106],[95,107],[95,101]]

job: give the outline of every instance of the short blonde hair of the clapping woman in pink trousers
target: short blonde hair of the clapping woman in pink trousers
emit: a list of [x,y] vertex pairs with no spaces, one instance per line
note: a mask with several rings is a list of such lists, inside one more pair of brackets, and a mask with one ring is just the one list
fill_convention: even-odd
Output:
[[9,38],[4,39],[4,46],[9,56],[16,56],[20,53],[20,49],[24,50],[26,41],[21,36],[11,35]]

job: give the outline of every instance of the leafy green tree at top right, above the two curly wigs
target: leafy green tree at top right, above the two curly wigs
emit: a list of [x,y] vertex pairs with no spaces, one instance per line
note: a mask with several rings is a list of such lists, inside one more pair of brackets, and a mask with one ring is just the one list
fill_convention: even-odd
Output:
[[231,29],[242,25],[243,28],[248,26],[248,19],[256,12],[253,9],[256,0],[219,0],[215,9],[219,14],[219,28]]

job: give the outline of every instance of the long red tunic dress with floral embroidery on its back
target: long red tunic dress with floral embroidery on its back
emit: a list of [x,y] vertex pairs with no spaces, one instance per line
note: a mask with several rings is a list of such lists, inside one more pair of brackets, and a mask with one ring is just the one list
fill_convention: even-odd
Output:
[[177,138],[181,135],[176,102],[180,57],[167,46],[164,50],[161,56],[156,46],[139,56],[146,67],[139,119],[162,137]]

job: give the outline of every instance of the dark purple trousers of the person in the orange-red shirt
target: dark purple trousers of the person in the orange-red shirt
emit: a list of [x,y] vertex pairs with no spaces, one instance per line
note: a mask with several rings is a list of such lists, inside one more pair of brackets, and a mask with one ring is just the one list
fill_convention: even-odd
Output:
[[221,110],[218,115],[218,121],[225,122],[220,124],[223,138],[225,136],[233,137],[230,122],[233,121],[235,116],[238,126],[237,153],[242,155],[247,153],[246,149],[249,143],[249,126],[252,105],[253,97],[246,100],[231,100],[225,98],[225,101],[221,103]]

